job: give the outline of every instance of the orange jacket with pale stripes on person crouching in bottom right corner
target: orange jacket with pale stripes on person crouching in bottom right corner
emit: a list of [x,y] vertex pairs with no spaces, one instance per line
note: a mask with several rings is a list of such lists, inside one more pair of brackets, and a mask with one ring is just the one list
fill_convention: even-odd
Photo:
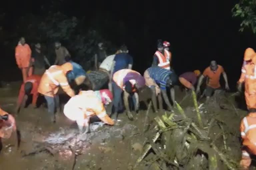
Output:
[[256,113],[249,113],[240,124],[243,145],[250,149],[252,154],[256,154]]

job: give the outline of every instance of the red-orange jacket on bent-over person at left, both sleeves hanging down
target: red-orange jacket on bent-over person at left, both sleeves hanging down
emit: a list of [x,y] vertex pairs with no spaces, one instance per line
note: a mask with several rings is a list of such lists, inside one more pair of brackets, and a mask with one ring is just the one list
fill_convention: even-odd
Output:
[[[26,82],[31,82],[33,84],[30,94],[33,95],[32,104],[34,106],[36,105],[36,101],[37,101],[37,98],[39,96],[38,86],[39,86],[40,80],[41,80],[40,75],[31,75],[25,81],[25,83]],[[18,97],[18,102],[17,102],[18,106],[21,105],[21,103],[23,101],[23,98],[25,96],[25,89],[24,89],[25,83],[22,83],[22,85],[20,87],[20,92],[19,92],[19,97]]]

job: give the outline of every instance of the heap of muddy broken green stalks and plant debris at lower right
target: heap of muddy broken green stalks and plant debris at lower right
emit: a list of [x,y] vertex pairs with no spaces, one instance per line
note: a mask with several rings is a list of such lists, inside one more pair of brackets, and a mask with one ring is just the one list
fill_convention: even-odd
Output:
[[192,96],[195,109],[194,112],[191,109],[190,114],[193,116],[176,103],[174,113],[155,118],[155,133],[145,142],[144,152],[134,169],[238,169],[240,146],[234,142],[238,140],[239,134],[235,131],[238,129],[229,127],[215,114],[203,115],[200,110],[203,107],[198,107],[194,92]]

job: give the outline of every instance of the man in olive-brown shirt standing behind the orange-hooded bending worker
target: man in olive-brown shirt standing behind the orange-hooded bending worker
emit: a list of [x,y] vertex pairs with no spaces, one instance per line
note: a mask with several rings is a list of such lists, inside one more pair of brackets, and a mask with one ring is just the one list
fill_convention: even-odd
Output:
[[65,61],[65,57],[67,55],[70,56],[68,50],[66,47],[61,46],[60,42],[55,42],[55,53],[56,53],[56,60],[54,62],[54,65],[62,65],[64,64]]

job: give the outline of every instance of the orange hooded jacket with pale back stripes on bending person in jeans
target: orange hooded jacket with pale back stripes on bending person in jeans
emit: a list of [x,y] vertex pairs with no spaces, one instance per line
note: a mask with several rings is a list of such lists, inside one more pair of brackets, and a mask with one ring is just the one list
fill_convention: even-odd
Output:
[[70,96],[75,96],[74,91],[68,84],[66,78],[66,73],[71,71],[73,66],[71,63],[67,62],[61,66],[53,65],[43,74],[38,92],[45,95],[53,97],[59,90],[59,86]]

